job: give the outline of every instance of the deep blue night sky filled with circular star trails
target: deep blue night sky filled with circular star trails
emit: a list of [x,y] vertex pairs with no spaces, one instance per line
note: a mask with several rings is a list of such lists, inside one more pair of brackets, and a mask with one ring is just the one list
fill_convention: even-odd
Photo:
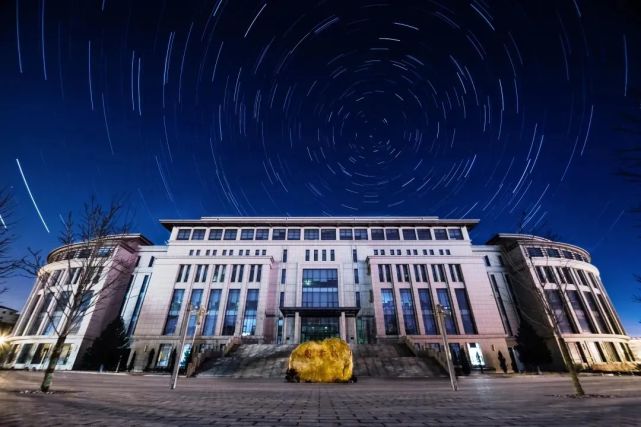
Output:
[[[91,194],[126,197],[160,244],[160,218],[479,218],[477,244],[521,224],[586,248],[641,335],[641,189],[616,174],[635,143],[620,128],[640,114],[640,10],[2,1],[14,252],[56,246],[61,215]],[[21,308],[31,280],[6,285],[0,303]]]

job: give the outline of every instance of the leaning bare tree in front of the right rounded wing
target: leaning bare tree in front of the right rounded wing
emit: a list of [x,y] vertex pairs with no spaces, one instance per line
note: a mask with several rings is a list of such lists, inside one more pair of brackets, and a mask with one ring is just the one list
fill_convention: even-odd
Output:
[[[529,259],[529,257],[525,257],[525,259],[527,260]],[[579,376],[578,376],[576,367],[574,366],[572,357],[570,356],[568,346],[565,342],[565,339],[563,338],[563,332],[561,331],[561,318],[556,313],[556,310],[554,309],[554,307],[552,307],[550,301],[545,295],[545,282],[541,280],[537,280],[538,276],[536,271],[533,274],[530,272],[530,267],[533,269],[536,269],[536,266],[534,266],[531,259],[529,263],[526,262],[525,265],[523,265],[521,268],[519,268],[514,264],[514,261],[512,260],[511,256],[508,256],[507,260],[512,270],[517,273],[515,277],[513,276],[512,283],[514,283],[516,286],[519,286],[521,291],[523,291],[531,299],[536,301],[538,303],[538,307],[543,309],[543,313],[541,313],[543,315],[535,317],[534,315],[528,314],[527,311],[524,310],[524,307],[522,304],[521,310],[520,310],[521,315],[525,317],[527,321],[529,321],[532,325],[537,325],[539,327],[539,330],[545,331],[546,333],[548,333],[549,334],[548,338],[551,337],[556,341],[557,346],[561,351],[561,357],[563,359],[563,364],[565,366],[565,369],[568,371],[568,373],[570,374],[570,378],[572,379],[572,386],[574,387],[574,391],[576,392],[576,395],[577,396],[585,395],[583,386],[579,381]],[[549,265],[547,267],[552,268],[552,266],[549,266]],[[552,271],[552,274],[554,275],[555,273]],[[559,274],[565,274],[565,272],[561,270]],[[526,276],[526,277],[530,276],[530,277],[533,277],[534,280],[528,280],[527,278],[522,278],[522,276]],[[549,279],[546,280],[546,282],[547,281],[549,281]],[[561,303],[563,304],[563,310],[565,310],[565,312],[568,313],[569,307],[567,306],[568,303],[567,303],[567,296],[566,296],[567,294],[566,294],[565,288],[567,288],[567,283],[569,282],[569,280],[567,280],[567,277],[564,277],[563,280],[558,280],[556,277],[554,277],[553,281],[555,283],[559,281],[561,282],[561,283],[556,283],[556,289],[559,290],[559,297],[561,298]],[[565,286],[563,286],[564,284]]]

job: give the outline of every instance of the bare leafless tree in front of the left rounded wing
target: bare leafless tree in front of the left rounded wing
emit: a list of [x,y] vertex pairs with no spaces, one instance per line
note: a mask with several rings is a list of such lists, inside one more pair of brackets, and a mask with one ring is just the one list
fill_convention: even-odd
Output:
[[131,270],[133,260],[114,256],[129,232],[126,216],[122,202],[113,201],[103,207],[94,197],[84,204],[79,221],[71,212],[67,215],[59,237],[61,250],[49,260],[66,261],[64,280],[62,270],[44,272],[43,260],[32,251],[32,261],[26,269],[37,274],[43,295],[53,300],[46,330],[57,336],[40,386],[43,392],[51,387],[67,336],[78,330],[84,316],[104,309],[110,296],[122,292],[127,285],[128,274],[124,273]]

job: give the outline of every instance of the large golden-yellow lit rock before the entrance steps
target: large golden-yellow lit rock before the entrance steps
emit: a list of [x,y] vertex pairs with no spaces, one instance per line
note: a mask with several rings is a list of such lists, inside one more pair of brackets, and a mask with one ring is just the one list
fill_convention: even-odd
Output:
[[352,350],[340,338],[307,341],[289,356],[288,380],[331,383],[352,380]]

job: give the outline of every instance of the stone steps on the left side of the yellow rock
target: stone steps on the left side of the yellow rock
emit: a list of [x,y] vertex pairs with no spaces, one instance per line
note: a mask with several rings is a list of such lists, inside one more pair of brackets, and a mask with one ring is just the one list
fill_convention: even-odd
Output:
[[289,354],[295,345],[241,344],[216,359],[199,377],[285,378]]

